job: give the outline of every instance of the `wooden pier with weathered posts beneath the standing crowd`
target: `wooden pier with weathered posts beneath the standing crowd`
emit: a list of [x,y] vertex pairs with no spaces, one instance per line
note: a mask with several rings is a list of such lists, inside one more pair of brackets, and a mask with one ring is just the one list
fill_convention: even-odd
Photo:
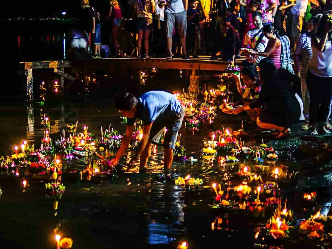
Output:
[[[64,78],[73,80],[71,75],[64,72],[64,68],[75,66],[81,68],[82,71],[94,70],[113,70],[113,69],[182,69],[192,70],[192,75],[197,71],[225,71],[230,64],[229,61],[210,60],[210,56],[199,56],[199,58],[191,58],[184,60],[179,58],[166,59],[166,58],[149,58],[139,59],[135,57],[125,58],[84,58],[76,62],[67,60],[53,60],[53,61],[34,61],[34,62],[20,62],[19,69],[25,75],[27,84],[27,99],[33,100],[33,70],[34,69],[49,69],[54,68],[54,73],[61,76],[60,86],[64,88]],[[243,59],[237,59],[235,64],[241,64]],[[59,70],[60,69],[60,70]]]

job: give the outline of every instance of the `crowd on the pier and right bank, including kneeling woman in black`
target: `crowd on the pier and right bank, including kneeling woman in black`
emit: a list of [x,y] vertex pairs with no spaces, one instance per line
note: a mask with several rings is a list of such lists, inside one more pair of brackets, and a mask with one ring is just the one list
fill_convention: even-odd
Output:
[[[312,135],[332,131],[331,4],[331,0],[111,0],[106,15],[111,30],[104,31],[105,17],[82,0],[79,18],[81,34],[89,37],[95,57],[101,57],[101,32],[111,34],[113,57],[124,56],[119,36],[128,27],[136,38],[134,56],[139,58],[210,54],[211,60],[232,60],[242,53],[247,63],[243,70],[249,74],[242,77],[256,78],[261,93],[233,113],[247,111],[260,127],[276,129],[282,137],[299,119],[305,121],[302,129],[311,128]],[[87,48],[81,38],[75,37],[72,44]]]

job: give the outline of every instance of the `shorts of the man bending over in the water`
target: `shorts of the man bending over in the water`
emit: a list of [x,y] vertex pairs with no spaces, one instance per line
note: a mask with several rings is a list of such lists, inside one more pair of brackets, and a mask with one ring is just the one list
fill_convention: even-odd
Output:
[[184,116],[185,112],[181,109],[179,113],[175,113],[172,117],[168,118],[167,121],[154,122],[151,127],[149,142],[158,144],[166,127],[167,131],[164,137],[164,148],[174,149]]

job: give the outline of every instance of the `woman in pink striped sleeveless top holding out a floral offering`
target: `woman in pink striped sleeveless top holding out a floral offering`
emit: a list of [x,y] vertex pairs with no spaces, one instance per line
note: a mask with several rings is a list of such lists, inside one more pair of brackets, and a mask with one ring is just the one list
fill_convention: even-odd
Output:
[[281,68],[281,41],[278,34],[274,33],[272,25],[263,27],[264,36],[269,39],[268,45],[264,52],[249,51],[250,54],[264,56],[271,59],[276,68]]

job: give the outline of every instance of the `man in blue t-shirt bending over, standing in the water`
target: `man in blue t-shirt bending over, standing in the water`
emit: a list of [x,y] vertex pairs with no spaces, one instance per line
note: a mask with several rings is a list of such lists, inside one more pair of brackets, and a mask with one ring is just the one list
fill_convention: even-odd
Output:
[[163,91],[150,91],[139,98],[129,93],[116,98],[116,107],[127,118],[127,127],[121,146],[116,156],[111,160],[111,166],[118,164],[126,151],[134,129],[134,122],[138,118],[143,121],[143,138],[138,146],[136,155],[130,160],[129,168],[140,158],[139,169],[145,170],[150,157],[151,143],[158,144],[164,128],[164,169],[169,170],[173,161],[178,131],[182,125],[184,110],[174,95]]

